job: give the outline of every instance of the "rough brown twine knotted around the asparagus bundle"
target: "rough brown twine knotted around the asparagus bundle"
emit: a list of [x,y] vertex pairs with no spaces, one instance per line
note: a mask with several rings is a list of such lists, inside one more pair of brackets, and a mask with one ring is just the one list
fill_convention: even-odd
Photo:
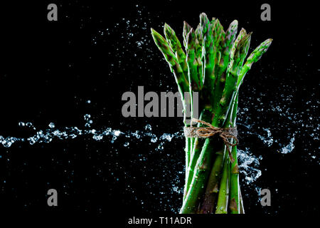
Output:
[[[203,125],[207,125],[208,127],[200,127],[195,128],[193,127],[192,123],[202,123]],[[187,138],[209,138],[212,137],[215,134],[218,134],[220,138],[222,138],[223,142],[225,142],[225,146],[227,147],[227,150],[229,152],[229,157],[231,162],[234,162],[233,155],[231,154],[230,147],[234,147],[235,145],[238,145],[238,131],[237,127],[234,128],[216,128],[213,125],[210,125],[210,123],[207,123],[203,120],[198,120],[195,118],[191,119],[190,127],[184,127],[184,135],[186,135]],[[229,142],[229,139],[235,140],[234,143]]]

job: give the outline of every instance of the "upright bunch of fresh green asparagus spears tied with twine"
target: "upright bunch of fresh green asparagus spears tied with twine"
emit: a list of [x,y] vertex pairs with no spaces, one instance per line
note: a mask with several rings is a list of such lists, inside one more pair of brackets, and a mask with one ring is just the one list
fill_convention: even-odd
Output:
[[[198,128],[206,127],[203,123],[217,129],[235,128],[243,78],[272,42],[272,39],[262,42],[245,59],[252,33],[242,28],[236,36],[237,31],[238,21],[224,31],[218,19],[210,21],[203,13],[196,29],[184,22],[183,51],[168,24],[164,25],[165,38],[151,28],[156,46],[174,73],[184,109],[184,93],[190,93],[191,98],[193,92],[199,93]],[[185,125],[190,127],[186,121]],[[217,135],[208,138],[186,135],[186,183],[181,213],[244,213],[236,138],[225,141]]]

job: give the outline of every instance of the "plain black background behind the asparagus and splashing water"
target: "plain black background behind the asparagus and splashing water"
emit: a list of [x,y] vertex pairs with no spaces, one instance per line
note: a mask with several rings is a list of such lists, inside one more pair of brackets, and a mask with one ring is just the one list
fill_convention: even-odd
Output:
[[[272,21],[260,20],[264,2],[259,1],[1,3],[0,135],[30,135],[32,131],[18,127],[20,121],[30,121],[41,129],[48,128],[50,122],[57,127],[83,126],[82,117],[87,113],[97,128],[110,126],[125,132],[143,130],[150,123],[160,135],[176,132],[181,128],[181,120],[176,118],[123,118],[121,95],[127,90],[137,93],[137,86],[144,86],[146,91],[176,91],[174,78],[151,40],[149,29],[161,32],[166,22],[180,34],[183,20],[195,26],[201,12],[220,19],[225,28],[237,19],[240,27],[253,31],[252,48],[266,38],[274,39],[270,50],[252,67],[252,77],[242,87],[240,105],[252,105],[247,102],[252,88],[254,95],[266,94],[264,103],[279,100],[281,105],[283,101],[277,95],[283,92],[292,95],[290,107],[297,113],[306,110],[306,100],[311,100],[316,105],[311,114],[317,123],[319,70],[314,49],[319,25],[315,7],[306,1],[267,2],[272,7]],[[50,3],[58,5],[58,21],[47,20]],[[101,33],[106,28],[107,35]],[[129,33],[133,33],[131,40],[127,40]],[[142,46],[137,45],[141,40]],[[260,73],[264,76],[255,76]],[[307,122],[308,112],[304,115]],[[268,112],[253,110],[250,121],[265,126],[272,123],[279,139],[295,128],[294,123],[274,125],[282,119]],[[277,128],[281,128],[278,133]],[[253,137],[242,138],[244,146],[250,145],[257,155],[264,155],[261,169],[267,171],[262,172],[260,186],[279,190],[273,191],[272,207],[268,209],[257,203],[255,190],[245,190],[247,214],[317,212],[319,163],[303,155],[303,148],[317,150],[317,146],[316,141],[304,136],[296,136],[295,149],[287,155],[269,152]],[[137,141],[129,148],[122,146],[124,140],[111,144],[84,136],[49,144],[1,146],[1,209],[129,216],[177,212],[181,195],[170,195],[168,189],[172,182],[183,185],[183,139],[171,141],[162,153],[150,152],[153,149],[148,140]],[[147,161],[141,162],[141,157]],[[46,204],[50,188],[59,192],[56,208]]]

